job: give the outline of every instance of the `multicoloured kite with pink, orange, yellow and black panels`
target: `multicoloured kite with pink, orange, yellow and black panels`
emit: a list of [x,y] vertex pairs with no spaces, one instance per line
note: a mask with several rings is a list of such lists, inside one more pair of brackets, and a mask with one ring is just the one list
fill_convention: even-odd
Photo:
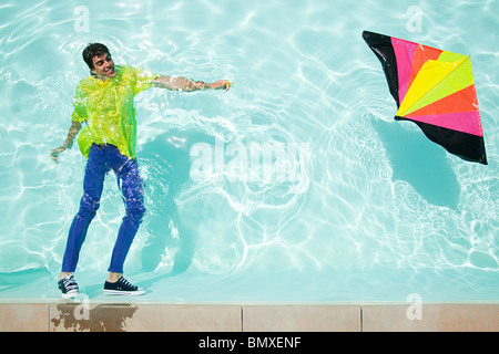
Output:
[[414,122],[449,153],[487,165],[470,56],[368,31],[363,38],[381,62],[395,119]]

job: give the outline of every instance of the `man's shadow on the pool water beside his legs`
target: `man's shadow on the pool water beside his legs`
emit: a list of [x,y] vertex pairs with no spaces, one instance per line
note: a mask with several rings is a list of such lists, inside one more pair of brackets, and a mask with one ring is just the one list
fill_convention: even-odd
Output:
[[143,144],[139,154],[141,166],[149,169],[145,181],[151,238],[142,249],[142,271],[152,272],[165,249],[177,249],[173,269],[167,277],[180,274],[191,266],[195,250],[195,232],[179,215],[175,197],[190,178],[192,144],[207,142],[208,136],[193,132],[169,132]]

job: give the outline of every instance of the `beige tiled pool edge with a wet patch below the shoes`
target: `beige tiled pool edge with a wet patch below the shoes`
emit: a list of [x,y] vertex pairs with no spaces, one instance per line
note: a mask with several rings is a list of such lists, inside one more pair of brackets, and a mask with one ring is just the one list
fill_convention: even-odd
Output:
[[[420,311],[419,311],[420,310]],[[499,331],[499,304],[0,303],[1,332]]]

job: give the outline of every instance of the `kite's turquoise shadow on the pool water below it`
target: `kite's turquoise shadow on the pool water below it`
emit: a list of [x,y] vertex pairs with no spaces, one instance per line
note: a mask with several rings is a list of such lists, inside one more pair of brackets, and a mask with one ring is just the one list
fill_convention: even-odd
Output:
[[446,150],[422,132],[408,131],[403,124],[373,119],[390,159],[394,179],[410,184],[429,204],[457,209],[460,186]]

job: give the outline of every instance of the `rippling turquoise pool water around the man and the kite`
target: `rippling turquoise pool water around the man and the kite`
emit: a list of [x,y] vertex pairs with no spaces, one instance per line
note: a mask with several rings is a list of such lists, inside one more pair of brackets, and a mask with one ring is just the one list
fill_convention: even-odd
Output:
[[[150,290],[141,301],[499,300],[497,13],[498,1],[3,1],[0,299],[59,298],[85,159],[49,152],[99,41],[116,64],[234,81],[135,100],[147,216],[125,272]],[[393,119],[363,30],[471,54],[488,166]],[[77,271],[91,299],[123,214],[109,176]]]

